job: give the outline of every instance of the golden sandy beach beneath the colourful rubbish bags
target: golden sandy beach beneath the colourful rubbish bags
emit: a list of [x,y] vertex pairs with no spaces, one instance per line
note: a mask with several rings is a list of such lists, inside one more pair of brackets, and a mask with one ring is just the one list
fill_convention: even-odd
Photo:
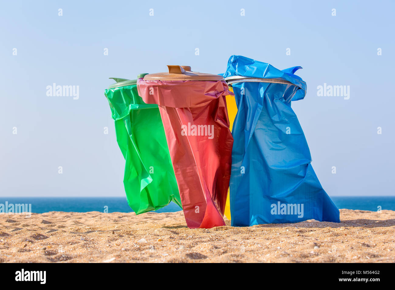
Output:
[[173,213],[0,215],[0,262],[395,262],[395,211],[189,229]]

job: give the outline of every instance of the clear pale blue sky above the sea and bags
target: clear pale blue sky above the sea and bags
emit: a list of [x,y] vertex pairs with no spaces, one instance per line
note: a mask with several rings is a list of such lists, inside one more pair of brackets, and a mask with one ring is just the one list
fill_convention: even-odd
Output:
[[[124,160],[104,97],[108,78],[134,79],[166,71],[167,64],[223,73],[232,54],[279,69],[303,67],[297,74],[307,95],[292,107],[330,196],[395,195],[394,2],[2,1],[0,7],[0,196],[124,196]],[[47,96],[53,83],[78,85],[79,99]],[[318,97],[324,83],[350,86],[350,99]]]

